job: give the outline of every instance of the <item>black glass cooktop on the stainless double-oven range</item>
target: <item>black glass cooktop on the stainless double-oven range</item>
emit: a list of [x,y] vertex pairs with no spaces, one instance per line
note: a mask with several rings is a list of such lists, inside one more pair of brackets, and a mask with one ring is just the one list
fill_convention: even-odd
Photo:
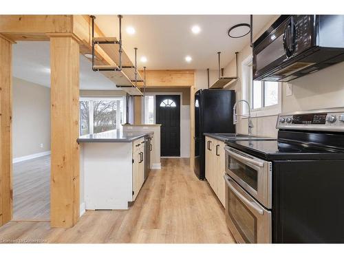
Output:
[[305,142],[286,140],[229,140],[229,147],[266,160],[344,159],[344,151]]

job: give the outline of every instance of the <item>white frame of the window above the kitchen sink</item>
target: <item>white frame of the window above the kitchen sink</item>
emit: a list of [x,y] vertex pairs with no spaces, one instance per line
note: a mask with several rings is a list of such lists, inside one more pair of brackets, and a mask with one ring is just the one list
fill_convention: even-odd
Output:
[[[248,56],[241,62],[241,98],[247,100],[251,107],[252,117],[263,116],[275,116],[281,113],[282,110],[282,83],[278,85],[278,103],[268,107],[260,107],[258,109],[252,109],[252,72],[250,72],[250,66],[252,65],[252,55]],[[248,115],[248,107],[246,103],[241,104],[241,110],[244,115]]]

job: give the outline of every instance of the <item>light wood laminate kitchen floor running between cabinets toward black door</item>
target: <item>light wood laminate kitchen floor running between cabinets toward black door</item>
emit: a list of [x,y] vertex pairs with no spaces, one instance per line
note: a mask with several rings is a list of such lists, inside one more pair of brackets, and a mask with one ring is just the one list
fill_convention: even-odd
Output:
[[136,202],[125,211],[87,211],[76,226],[49,222],[9,222],[0,239],[43,239],[51,243],[233,243],[224,208],[189,159],[162,159]]

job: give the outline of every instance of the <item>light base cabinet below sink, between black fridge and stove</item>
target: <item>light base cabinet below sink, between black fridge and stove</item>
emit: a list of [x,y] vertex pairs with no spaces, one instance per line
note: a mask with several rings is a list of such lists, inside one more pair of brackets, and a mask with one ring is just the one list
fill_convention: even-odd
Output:
[[224,145],[224,142],[206,136],[206,180],[223,206],[226,188]]

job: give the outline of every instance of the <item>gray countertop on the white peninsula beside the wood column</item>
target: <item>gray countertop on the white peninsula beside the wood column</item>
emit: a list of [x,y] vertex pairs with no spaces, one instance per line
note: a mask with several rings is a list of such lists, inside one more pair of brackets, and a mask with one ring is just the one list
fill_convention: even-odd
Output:
[[103,133],[80,136],[78,142],[132,142],[144,136],[153,135],[153,131],[122,131],[111,130]]

